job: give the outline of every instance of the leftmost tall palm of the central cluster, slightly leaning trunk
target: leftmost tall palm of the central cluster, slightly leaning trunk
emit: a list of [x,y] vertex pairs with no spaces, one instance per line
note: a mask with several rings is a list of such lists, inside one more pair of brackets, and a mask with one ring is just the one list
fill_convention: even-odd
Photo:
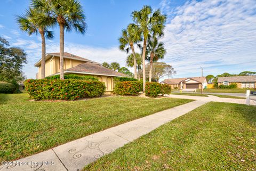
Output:
[[134,78],[137,78],[137,64],[134,51],[134,43],[139,43],[141,41],[141,31],[137,25],[130,24],[127,26],[127,29],[122,30],[122,36],[119,39],[119,49],[129,53],[132,50],[133,58],[133,67],[134,67]]

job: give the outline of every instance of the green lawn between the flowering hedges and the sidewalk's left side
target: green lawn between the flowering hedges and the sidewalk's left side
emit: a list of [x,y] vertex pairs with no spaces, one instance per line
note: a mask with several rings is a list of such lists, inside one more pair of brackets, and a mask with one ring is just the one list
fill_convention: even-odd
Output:
[[0,161],[50,149],[191,100],[104,97],[86,101],[29,101],[0,94]]

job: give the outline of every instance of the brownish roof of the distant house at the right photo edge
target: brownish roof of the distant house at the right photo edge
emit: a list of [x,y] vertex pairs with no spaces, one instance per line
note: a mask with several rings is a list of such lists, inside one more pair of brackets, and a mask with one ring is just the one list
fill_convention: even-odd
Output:
[[218,83],[223,83],[223,82],[230,82],[230,83],[256,82],[256,76],[219,77]]

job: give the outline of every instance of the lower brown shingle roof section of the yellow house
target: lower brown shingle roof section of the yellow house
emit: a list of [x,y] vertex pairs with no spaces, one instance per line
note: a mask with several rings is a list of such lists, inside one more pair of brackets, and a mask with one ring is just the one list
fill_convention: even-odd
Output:
[[116,72],[114,70],[99,66],[98,64],[86,62],[79,64],[76,67],[69,68],[65,70],[66,72],[83,72],[84,74],[92,74],[92,75],[106,75],[106,76],[117,76],[117,77],[129,77],[120,72]]

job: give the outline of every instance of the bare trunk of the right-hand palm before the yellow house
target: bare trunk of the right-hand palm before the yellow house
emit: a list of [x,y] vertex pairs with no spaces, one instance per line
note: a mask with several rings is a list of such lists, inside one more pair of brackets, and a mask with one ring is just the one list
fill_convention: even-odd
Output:
[[60,25],[60,79],[64,79],[63,54],[64,54],[64,26]]

